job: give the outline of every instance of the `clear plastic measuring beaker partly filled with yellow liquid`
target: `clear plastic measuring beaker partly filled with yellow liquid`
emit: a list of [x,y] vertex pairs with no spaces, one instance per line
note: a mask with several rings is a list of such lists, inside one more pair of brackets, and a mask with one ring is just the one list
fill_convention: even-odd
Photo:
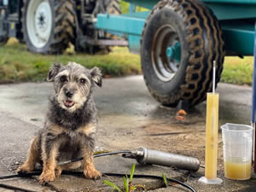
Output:
[[253,127],[227,123],[221,126],[224,143],[224,175],[230,179],[251,177]]

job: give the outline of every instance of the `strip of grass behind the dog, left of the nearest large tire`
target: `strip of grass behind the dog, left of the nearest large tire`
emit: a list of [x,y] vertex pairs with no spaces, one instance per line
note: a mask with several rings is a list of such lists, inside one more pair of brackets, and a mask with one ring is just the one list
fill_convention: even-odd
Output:
[[88,68],[100,67],[105,77],[141,73],[139,56],[131,54],[126,48],[114,48],[109,55],[38,55],[28,52],[26,45],[11,39],[0,47],[0,83],[44,81],[52,63],[67,64],[68,61]]

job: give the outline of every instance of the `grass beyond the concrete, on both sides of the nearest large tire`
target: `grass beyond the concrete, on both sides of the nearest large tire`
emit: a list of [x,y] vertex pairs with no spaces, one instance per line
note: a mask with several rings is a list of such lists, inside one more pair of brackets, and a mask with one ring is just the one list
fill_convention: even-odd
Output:
[[[7,45],[0,47],[0,83],[45,81],[53,62],[67,64],[68,61],[88,68],[100,67],[105,78],[142,73],[139,55],[131,54],[126,48],[114,48],[109,55],[38,55],[28,52],[26,45],[11,39]],[[253,56],[244,59],[225,57],[221,82],[252,85],[252,77]]]

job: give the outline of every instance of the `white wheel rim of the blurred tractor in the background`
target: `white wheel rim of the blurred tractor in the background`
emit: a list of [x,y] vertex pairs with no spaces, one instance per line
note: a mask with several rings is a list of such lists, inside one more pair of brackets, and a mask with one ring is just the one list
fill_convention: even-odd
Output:
[[48,0],[30,1],[26,13],[26,31],[32,45],[43,48],[49,41],[52,13]]

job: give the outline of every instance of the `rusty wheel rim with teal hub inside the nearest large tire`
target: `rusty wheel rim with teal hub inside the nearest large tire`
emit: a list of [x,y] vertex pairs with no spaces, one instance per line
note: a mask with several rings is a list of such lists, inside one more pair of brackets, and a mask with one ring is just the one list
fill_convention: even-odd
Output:
[[170,26],[161,26],[154,34],[151,49],[151,61],[154,73],[164,82],[170,81],[177,73],[181,47],[176,30]]

